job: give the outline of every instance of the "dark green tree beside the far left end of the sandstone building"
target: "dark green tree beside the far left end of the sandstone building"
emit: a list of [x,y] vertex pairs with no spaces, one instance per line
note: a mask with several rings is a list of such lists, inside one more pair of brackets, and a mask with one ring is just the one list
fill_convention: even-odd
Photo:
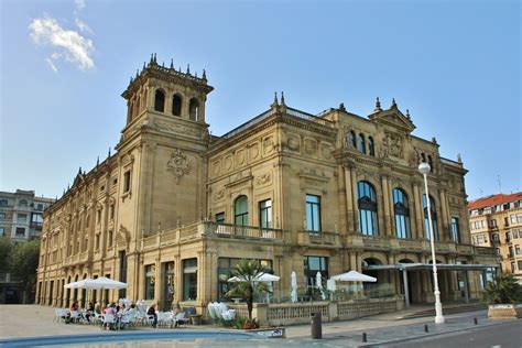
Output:
[[40,240],[13,244],[9,271],[23,286],[23,303],[36,284],[36,268],[40,258]]

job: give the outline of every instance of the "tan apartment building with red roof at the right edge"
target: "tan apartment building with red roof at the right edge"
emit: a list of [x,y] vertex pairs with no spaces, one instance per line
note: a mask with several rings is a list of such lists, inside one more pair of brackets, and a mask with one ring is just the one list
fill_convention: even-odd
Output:
[[496,248],[502,272],[522,283],[522,192],[482,197],[468,209],[472,243]]

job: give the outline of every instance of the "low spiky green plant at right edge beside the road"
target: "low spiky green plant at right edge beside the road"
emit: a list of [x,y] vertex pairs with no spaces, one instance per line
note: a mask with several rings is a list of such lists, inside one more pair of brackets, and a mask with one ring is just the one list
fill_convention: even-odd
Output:
[[513,274],[501,273],[486,284],[482,301],[488,304],[522,303],[522,285]]

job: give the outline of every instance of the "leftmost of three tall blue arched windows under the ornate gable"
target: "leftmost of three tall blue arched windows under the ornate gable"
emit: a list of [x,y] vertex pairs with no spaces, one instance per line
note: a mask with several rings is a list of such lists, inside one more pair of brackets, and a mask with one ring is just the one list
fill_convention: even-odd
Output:
[[376,189],[368,182],[357,183],[357,203],[359,206],[359,230],[365,236],[379,233],[377,222]]

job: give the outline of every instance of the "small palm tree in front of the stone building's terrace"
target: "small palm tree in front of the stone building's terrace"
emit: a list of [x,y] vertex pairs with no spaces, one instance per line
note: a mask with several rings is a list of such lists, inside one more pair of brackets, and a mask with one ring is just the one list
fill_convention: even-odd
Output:
[[261,267],[258,260],[241,260],[232,270],[232,275],[238,278],[238,282],[232,283],[229,292],[225,295],[227,297],[240,296],[247,303],[248,317],[252,319],[252,305],[254,291],[269,291],[265,283],[255,282],[254,280],[268,270]]

